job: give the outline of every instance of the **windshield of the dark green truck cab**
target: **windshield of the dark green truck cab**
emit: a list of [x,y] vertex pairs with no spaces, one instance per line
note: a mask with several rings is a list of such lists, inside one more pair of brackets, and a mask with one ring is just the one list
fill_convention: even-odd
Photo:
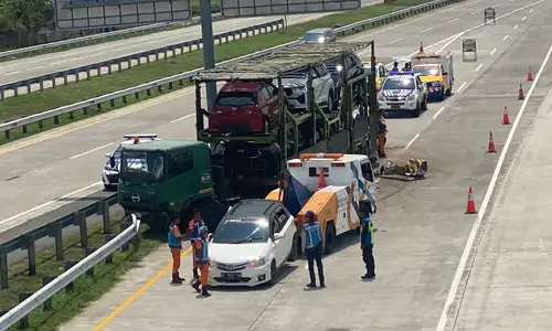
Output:
[[161,181],[164,175],[164,154],[157,151],[123,151],[120,171],[124,181]]

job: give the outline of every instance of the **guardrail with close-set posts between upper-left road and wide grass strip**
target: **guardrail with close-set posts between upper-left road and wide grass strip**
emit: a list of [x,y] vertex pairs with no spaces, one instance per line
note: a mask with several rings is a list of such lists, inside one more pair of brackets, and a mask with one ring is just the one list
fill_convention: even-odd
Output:
[[[263,34],[263,33],[272,33],[274,31],[277,31],[285,25],[285,20],[279,19],[266,23],[261,23],[261,24],[255,24],[252,26],[243,28],[243,29],[236,29],[227,32],[222,32],[219,34],[214,35],[214,42],[215,44],[223,44],[223,43],[229,43],[230,41],[236,40],[236,39],[244,39],[248,38],[252,35],[257,35],[257,34]],[[238,38],[237,38],[238,36]],[[192,52],[194,50],[200,50],[201,45],[203,44],[202,39],[195,39],[191,41],[185,41],[181,42],[178,44],[169,45],[169,46],[163,46],[155,50],[148,50],[144,52],[138,52],[134,54],[128,54],[125,56],[119,56],[116,58],[110,58],[108,61],[102,61],[93,64],[86,64],[77,67],[72,67],[68,70],[64,70],[57,73],[52,73],[47,75],[42,75],[38,77],[32,77],[28,79],[22,79],[18,82],[11,82],[7,83],[3,85],[0,85],[0,100],[3,100],[6,98],[6,92],[12,90],[13,96],[17,97],[19,96],[19,88],[20,87],[26,87],[26,94],[32,93],[32,87],[33,85],[39,85],[40,89],[39,90],[44,90],[44,83],[51,82],[52,87],[56,87],[56,79],[57,78],[63,78],[63,85],[67,85],[68,78],[71,76],[75,77],[75,82],[81,81],[81,73],[86,73],[86,79],[91,78],[91,72],[96,72],[97,75],[102,74],[102,70],[107,67],[107,74],[112,74],[113,72],[113,66],[117,66],[117,71],[123,70],[123,64],[126,63],[127,67],[130,68],[132,66],[132,61],[136,61],[136,65],[142,64],[142,60],[146,60],[146,63],[149,63],[151,61],[151,56],[155,56],[156,61],[159,61],[159,56],[162,54],[164,57],[168,58],[169,56],[176,56],[179,54],[183,54],[184,52]],[[177,51],[180,51],[178,53]]]

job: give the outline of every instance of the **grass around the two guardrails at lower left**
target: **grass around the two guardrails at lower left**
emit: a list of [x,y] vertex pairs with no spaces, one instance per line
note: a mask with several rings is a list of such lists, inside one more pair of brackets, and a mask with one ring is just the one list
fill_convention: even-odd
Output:
[[[119,232],[121,217],[112,221],[113,233]],[[142,232],[147,226],[142,225]],[[88,228],[88,246],[99,247],[103,244],[102,224]],[[161,241],[156,237],[135,238],[126,252],[118,250],[113,255],[113,264],[99,263],[94,268],[93,276],[81,276],[74,281],[72,290],[61,290],[52,299],[52,309],[35,309],[29,317],[30,325],[25,330],[54,331],[71,319],[77,317],[88,305],[108,292],[129,269],[138,266],[138,263],[148,254],[159,247]],[[79,236],[64,239],[65,260],[81,260],[84,258],[84,249],[79,246]],[[29,276],[26,259],[13,264],[9,268],[10,287],[0,290],[0,309],[10,309],[18,303],[19,292],[36,291],[42,287],[42,277],[59,276],[64,270],[63,261],[55,259],[55,252],[49,247],[36,254],[36,276]],[[18,324],[10,330],[21,330]]]

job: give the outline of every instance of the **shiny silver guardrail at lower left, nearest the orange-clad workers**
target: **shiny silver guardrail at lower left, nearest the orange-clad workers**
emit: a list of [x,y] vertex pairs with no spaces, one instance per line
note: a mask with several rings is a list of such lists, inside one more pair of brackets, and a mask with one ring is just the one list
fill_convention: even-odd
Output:
[[[140,220],[136,215],[131,214],[131,224],[121,231],[117,236],[112,237],[112,239],[104,246],[99,247],[94,253],[89,254],[83,260],[72,265],[66,268],[66,271],[51,279],[44,287],[34,293],[24,292],[24,299],[18,306],[12,308],[10,311],[6,312],[0,317],[0,330],[8,330],[11,325],[20,323],[20,328],[29,327],[29,314],[40,307],[41,305],[49,305],[51,308],[51,298],[64,288],[71,288],[72,282],[84,275],[86,271],[91,270],[99,264],[102,260],[108,259],[112,254],[117,249],[125,247],[127,243],[140,233]],[[21,298],[22,299],[22,298]]]

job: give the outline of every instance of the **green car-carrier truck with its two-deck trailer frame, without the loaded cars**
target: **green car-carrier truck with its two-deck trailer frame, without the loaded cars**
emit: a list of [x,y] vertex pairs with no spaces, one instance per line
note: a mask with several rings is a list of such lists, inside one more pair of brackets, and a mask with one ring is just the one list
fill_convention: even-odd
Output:
[[[373,152],[375,146],[369,143],[369,138],[374,128],[370,122],[375,117],[358,111],[359,103],[375,105],[375,93],[370,93],[370,99],[368,93],[369,76],[370,88],[375,89],[373,76],[343,78],[339,107],[331,113],[321,109],[312,98],[308,99],[308,111],[290,111],[282,85],[282,78],[298,68],[309,72],[314,64],[339,62],[370,45],[373,52],[373,42],[299,45],[266,58],[200,72],[194,77],[198,141],[156,139],[125,146],[118,184],[120,205],[127,213],[140,214],[142,222],[159,227],[166,227],[176,216],[185,226],[192,211],[199,209],[213,228],[234,201],[264,197],[275,189],[289,158],[302,152]],[[203,83],[220,81],[277,82],[273,83],[279,103],[276,125],[262,134],[209,130],[205,122],[210,113],[202,107],[200,89]],[[359,84],[364,86],[362,102],[353,97]],[[310,74],[307,88],[314,88]]]

